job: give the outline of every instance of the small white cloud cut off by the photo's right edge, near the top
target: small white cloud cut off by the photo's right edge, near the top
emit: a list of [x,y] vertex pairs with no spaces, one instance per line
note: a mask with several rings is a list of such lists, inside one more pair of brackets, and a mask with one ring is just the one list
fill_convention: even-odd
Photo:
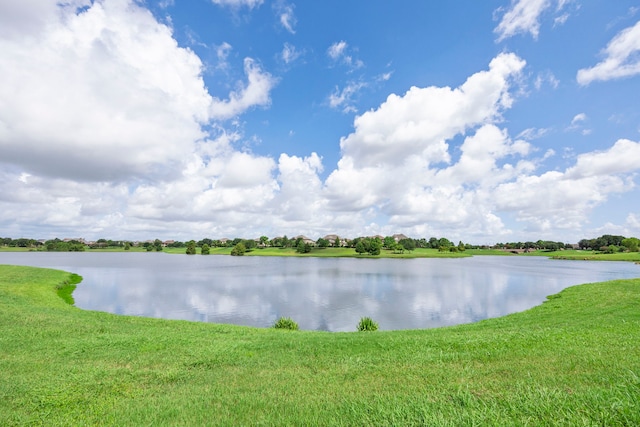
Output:
[[577,80],[588,85],[640,74],[640,21],[618,33],[603,51],[605,59],[591,68],[578,70]]

